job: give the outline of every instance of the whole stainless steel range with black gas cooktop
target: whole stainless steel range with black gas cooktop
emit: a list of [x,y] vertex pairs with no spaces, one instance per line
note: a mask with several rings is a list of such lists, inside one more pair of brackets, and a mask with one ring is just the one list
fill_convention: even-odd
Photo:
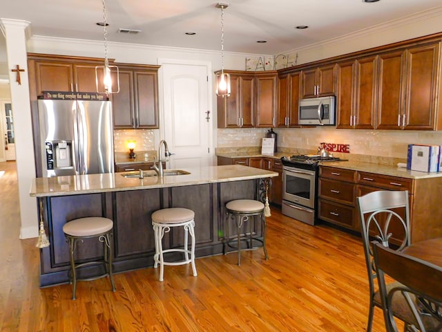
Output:
[[282,214],[309,225],[317,222],[319,163],[344,161],[336,157],[282,157]]

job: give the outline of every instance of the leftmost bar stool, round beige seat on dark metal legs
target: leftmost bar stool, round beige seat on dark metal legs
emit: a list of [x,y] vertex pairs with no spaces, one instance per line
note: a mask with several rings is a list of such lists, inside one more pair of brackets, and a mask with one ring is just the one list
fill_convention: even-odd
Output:
[[[102,277],[109,277],[111,279],[112,291],[115,292],[115,284],[112,275],[112,237],[113,237],[113,221],[111,219],[103,218],[101,216],[89,216],[86,218],[79,218],[68,221],[63,226],[64,236],[69,244],[70,255],[70,282],[73,284],[72,299],[75,299],[75,291],[77,291],[77,281],[81,280],[95,280]],[[96,237],[98,241],[104,243],[104,259],[99,261],[87,261],[86,263],[75,264],[74,252],[77,247],[77,242],[83,242],[84,239]],[[95,264],[104,264],[106,273],[97,277],[88,277],[77,279],[77,269],[83,266],[90,266]]]

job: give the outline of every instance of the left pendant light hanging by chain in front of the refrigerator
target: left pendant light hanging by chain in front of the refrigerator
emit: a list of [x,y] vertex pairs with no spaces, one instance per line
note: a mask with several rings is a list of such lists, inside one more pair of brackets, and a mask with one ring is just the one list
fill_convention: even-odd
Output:
[[[107,26],[108,23],[106,21],[106,3],[103,0],[103,23],[99,24],[103,26],[103,35],[104,35],[104,66],[96,66],[95,67],[95,84],[97,86],[98,93],[118,93],[119,92],[119,71],[117,66],[109,66],[108,60],[108,31]],[[114,74],[117,82],[115,82],[115,89],[113,89],[112,75]],[[103,84],[101,84],[103,83]],[[104,86],[104,90],[102,89],[102,85]]]

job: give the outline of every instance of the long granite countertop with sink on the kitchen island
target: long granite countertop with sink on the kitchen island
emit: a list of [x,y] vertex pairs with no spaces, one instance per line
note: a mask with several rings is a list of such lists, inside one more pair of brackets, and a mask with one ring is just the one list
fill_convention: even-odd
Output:
[[202,185],[256,178],[271,178],[278,173],[247,167],[243,165],[210,166],[183,168],[190,174],[179,176],[144,176],[144,178],[125,178],[122,173],[88,174],[77,176],[55,176],[32,180],[30,196],[67,196],[75,194],[93,194],[99,192],[121,192],[162,187],[180,187],[184,185]]

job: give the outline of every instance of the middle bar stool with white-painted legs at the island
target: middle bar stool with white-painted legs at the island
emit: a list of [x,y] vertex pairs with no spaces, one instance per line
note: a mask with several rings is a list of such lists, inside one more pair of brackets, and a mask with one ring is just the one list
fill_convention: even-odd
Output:
[[[192,264],[193,275],[196,276],[195,268],[195,212],[185,208],[167,208],[157,210],[152,214],[152,225],[155,233],[155,255],[153,256],[153,267],[157,268],[160,264],[160,282],[162,282],[164,275],[164,265],[182,265]],[[184,248],[173,248],[163,250],[162,239],[164,233],[170,232],[173,227],[184,228]],[[188,232],[191,234],[191,250],[188,247]],[[164,261],[164,254],[166,252],[184,252],[183,261]],[[190,254],[190,259],[189,259]]]

